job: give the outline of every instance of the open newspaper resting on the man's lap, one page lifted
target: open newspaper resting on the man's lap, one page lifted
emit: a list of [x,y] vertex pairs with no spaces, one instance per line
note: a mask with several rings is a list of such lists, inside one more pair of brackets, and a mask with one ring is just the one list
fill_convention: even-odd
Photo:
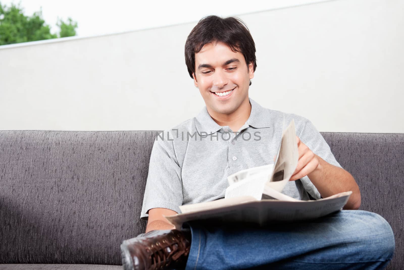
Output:
[[241,170],[227,177],[225,198],[179,206],[181,213],[164,216],[180,230],[186,221],[248,222],[259,225],[314,219],[339,211],[352,191],[320,200],[302,201],[282,193],[297,167],[295,123],[282,134],[275,163]]

